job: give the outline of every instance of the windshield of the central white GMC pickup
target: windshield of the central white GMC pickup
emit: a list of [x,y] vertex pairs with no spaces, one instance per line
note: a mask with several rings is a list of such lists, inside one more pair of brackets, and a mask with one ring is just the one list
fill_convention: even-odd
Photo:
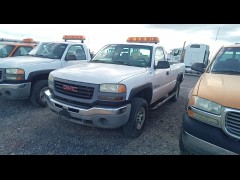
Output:
[[150,67],[152,49],[144,45],[111,44],[103,47],[90,62]]

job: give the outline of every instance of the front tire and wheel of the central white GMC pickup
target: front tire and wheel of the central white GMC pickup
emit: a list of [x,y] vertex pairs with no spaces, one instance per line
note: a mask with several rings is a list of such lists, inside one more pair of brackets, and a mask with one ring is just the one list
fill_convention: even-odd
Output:
[[142,134],[148,117],[148,103],[143,98],[134,98],[131,102],[131,112],[128,122],[122,127],[125,135],[138,137]]

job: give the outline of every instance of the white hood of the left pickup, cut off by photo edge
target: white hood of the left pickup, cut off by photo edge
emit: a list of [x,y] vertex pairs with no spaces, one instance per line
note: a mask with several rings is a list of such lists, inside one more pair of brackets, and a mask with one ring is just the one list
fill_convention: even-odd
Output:
[[32,64],[50,63],[53,61],[54,59],[32,56],[8,57],[0,60],[0,68],[31,66]]

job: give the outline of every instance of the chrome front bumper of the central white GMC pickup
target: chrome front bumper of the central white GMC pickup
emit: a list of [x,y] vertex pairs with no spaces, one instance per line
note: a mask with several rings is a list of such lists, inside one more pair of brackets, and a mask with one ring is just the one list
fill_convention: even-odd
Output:
[[131,104],[121,107],[92,107],[82,108],[71,106],[54,99],[49,90],[44,96],[48,107],[59,117],[74,123],[100,127],[118,128],[127,123],[131,111]]

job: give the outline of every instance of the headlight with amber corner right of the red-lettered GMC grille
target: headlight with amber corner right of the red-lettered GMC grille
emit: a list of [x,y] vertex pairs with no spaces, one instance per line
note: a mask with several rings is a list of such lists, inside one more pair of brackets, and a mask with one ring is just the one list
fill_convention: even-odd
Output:
[[124,84],[101,84],[100,92],[125,93],[127,88]]

